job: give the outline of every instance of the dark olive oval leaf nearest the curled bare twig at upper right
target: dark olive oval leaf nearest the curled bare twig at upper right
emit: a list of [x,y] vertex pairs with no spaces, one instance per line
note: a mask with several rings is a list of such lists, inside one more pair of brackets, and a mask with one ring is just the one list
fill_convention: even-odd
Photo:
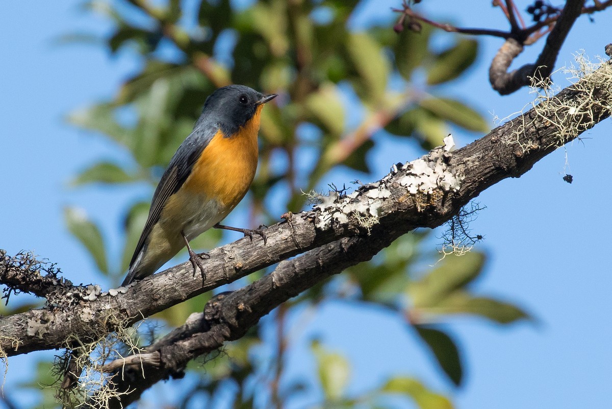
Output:
[[427,84],[435,85],[453,80],[463,73],[476,60],[478,42],[459,39],[454,47],[442,51],[427,72]]

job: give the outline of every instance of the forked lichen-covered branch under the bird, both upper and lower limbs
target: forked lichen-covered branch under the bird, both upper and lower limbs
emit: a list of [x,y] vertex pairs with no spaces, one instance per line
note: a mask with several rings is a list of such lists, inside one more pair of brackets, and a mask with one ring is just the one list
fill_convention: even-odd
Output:
[[[282,261],[262,279],[216,298],[202,320],[147,347],[159,351],[159,366],[147,366],[145,380],[132,378],[138,391],[155,379],[181,373],[185,362],[237,339],[281,302],[330,274],[367,260],[390,241],[416,227],[436,227],[451,219],[480,192],[504,178],[518,177],[535,162],[610,116],[612,66],[605,62],[583,73],[576,84],[542,98],[531,110],[464,148],[452,140],[424,157],[392,167],[378,182],[345,195],[319,198],[312,211],[283,215],[263,240],[241,239],[212,250],[204,263],[206,282],[183,263],[129,288],[84,296],[54,296],[42,309],[0,318],[0,348],[8,356],[34,350],[71,348],[97,342],[100,334],[124,329],[144,317]],[[89,288],[89,287],[83,287]],[[217,304],[215,304],[217,303]],[[186,332],[185,332],[186,333]],[[17,342],[16,342],[17,340]],[[129,362],[129,361],[126,361]],[[127,364],[126,364],[127,365]],[[125,386],[118,379],[113,385]],[[140,383],[139,383],[140,382]],[[124,390],[122,396],[136,396]],[[140,392],[139,392],[140,393]],[[131,401],[130,398],[125,402]]]

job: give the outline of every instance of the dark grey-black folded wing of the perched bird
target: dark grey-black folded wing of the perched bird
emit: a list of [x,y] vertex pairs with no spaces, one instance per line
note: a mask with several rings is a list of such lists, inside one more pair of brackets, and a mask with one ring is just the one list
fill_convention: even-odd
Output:
[[147,217],[143,233],[140,235],[140,239],[138,239],[136,250],[134,250],[132,261],[130,261],[130,274],[132,274],[135,268],[133,264],[143,250],[147,237],[151,234],[153,226],[159,220],[160,214],[162,214],[166,201],[171,195],[181,189],[181,186],[191,174],[193,165],[198,161],[200,154],[215,136],[217,130],[217,126],[203,126],[194,129],[170,160],[170,165],[166,168],[162,179],[157,185],[157,189],[155,189],[155,193],[153,193],[149,217]]

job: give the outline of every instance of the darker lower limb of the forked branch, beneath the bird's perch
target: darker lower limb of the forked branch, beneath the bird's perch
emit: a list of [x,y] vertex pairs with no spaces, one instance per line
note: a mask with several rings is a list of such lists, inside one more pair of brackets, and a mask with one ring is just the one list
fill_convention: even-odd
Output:
[[[259,319],[321,280],[360,261],[370,260],[394,241],[403,229],[376,225],[369,236],[342,238],[290,261],[282,261],[269,275],[231,293],[211,299],[204,313],[195,313],[187,323],[163,337],[146,351],[159,351],[159,366],[136,364],[117,372],[117,398],[110,408],[135,402],[147,388],[171,376],[182,376],[187,363],[200,355],[239,339]],[[136,363],[138,363],[136,361]]]

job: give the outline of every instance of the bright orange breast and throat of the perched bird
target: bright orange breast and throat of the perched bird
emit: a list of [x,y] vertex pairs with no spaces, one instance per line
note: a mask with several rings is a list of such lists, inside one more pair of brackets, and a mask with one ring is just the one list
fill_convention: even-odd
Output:
[[247,193],[257,170],[257,134],[261,108],[238,132],[225,137],[218,130],[204,148],[184,189],[217,200],[228,211]]

